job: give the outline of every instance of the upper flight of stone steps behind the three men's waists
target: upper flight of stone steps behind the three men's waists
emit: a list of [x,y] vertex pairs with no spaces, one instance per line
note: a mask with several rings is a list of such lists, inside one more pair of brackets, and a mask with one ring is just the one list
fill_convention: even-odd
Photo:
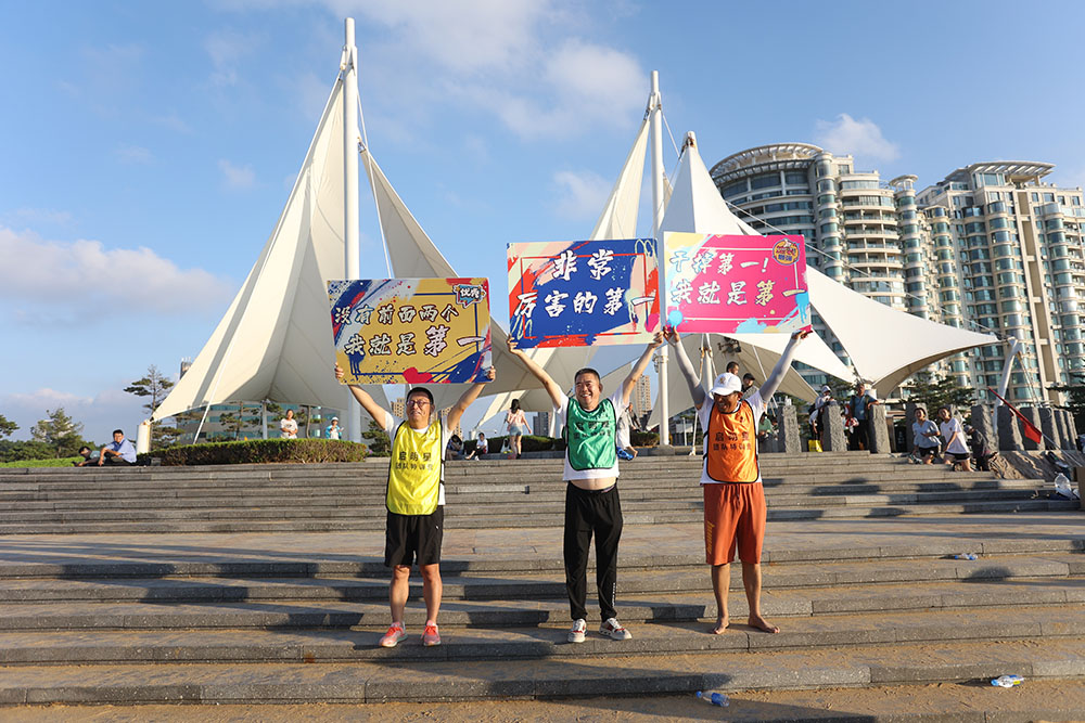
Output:
[[[954,473],[866,453],[762,456],[769,520],[1046,512],[1043,482]],[[622,467],[629,524],[701,519],[700,457]],[[561,525],[560,460],[455,462],[447,509],[458,528]],[[359,464],[0,470],[0,534],[383,529],[387,461]]]

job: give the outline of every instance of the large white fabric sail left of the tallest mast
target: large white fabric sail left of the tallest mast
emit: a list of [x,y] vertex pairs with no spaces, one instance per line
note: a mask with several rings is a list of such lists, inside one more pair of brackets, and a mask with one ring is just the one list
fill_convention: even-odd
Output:
[[[343,81],[324,106],[286,205],[210,338],[152,418],[227,401],[346,409],[324,281],[343,277]],[[368,387],[384,400],[381,387]]]

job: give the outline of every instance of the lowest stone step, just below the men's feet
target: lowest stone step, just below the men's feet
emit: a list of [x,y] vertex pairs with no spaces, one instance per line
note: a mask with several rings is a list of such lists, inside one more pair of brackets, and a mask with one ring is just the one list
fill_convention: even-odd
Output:
[[[975,681],[1013,671],[1029,680],[1085,675],[1085,641],[999,641],[712,651],[671,656],[563,656],[540,660],[445,660],[446,646],[409,666],[386,660],[8,666],[0,702],[387,702],[790,690]],[[613,642],[615,646],[622,643]],[[403,653],[409,647],[392,650]],[[990,687],[990,686],[988,686]],[[707,714],[702,708],[701,715]]]

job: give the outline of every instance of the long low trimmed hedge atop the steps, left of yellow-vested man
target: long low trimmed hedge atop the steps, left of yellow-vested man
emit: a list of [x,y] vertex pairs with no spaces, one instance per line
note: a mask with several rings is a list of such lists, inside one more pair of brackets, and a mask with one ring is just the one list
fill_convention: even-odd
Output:
[[[241,442],[213,442],[171,447],[153,455],[166,466],[195,464],[259,464],[267,462],[304,464],[306,462],[361,462],[365,444],[336,439],[255,439]],[[140,455],[142,457],[149,455]]]

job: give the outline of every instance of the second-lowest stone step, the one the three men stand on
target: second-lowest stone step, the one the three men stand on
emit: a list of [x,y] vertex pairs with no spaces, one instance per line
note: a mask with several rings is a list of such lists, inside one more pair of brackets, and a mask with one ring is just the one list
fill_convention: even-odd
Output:
[[[766,634],[736,622],[726,634],[707,633],[704,622],[644,623],[630,641],[612,641],[589,625],[579,645],[566,640],[569,623],[529,628],[471,628],[442,632],[445,660],[511,660],[763,651],[800,647],[895,645],[948,641],[1052,640],[1081,636],[1085,605],[1051,608],[932,610],[848,614],[789,619]],[[426,659],[422,645],[386,649],[378,645],[386,624],[340,630],[168,630],[0,632],[0,664],[113,662],[344,662]],[[408,631],[420,635],[421,630]],[[413,637],[412,636],[412,637]]]

